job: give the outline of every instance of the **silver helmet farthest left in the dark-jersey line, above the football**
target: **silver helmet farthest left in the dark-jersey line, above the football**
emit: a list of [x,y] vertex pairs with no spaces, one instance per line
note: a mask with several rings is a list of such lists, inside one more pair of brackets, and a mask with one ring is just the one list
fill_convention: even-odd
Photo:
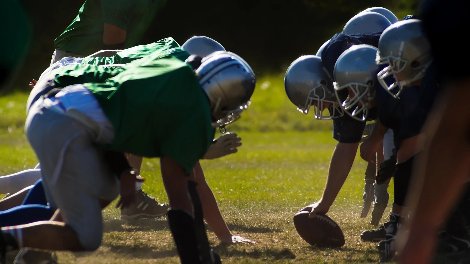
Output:
[[[292,62],[286,71],[284,88],[289,100],[305,115],[311,106],[318,120],[344,114],[333,91],[331,76],[318,56],[304,55]],[[325,103],[330,105],[330,113],[324,116]]]

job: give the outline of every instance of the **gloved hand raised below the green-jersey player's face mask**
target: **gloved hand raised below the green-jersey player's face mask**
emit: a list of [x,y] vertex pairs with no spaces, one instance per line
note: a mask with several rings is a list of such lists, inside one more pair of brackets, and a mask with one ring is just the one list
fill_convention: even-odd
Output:
[[236,133],[225,133],[214,140],[203,159],[211,160],[232,154],[238,151],[238,147],[242,146],[242,140]]

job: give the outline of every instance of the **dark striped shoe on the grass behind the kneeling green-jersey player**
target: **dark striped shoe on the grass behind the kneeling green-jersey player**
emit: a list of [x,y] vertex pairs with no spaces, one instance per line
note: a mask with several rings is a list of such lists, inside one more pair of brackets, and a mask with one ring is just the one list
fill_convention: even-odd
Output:
[[139,190],[135,194],[135,203],[121,210],[121,219],[157,218],[166,215],[169,204],[159,203],[154,197]]

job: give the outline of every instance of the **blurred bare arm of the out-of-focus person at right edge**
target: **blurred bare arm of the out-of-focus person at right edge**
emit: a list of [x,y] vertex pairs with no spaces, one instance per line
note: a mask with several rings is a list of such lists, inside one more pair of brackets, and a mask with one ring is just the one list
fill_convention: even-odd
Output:
[[[407,201],[414,211],[415,228],[436,228],[450,212],[470,175],[470,113],[462,111],[470,96],[468,86],[450,89],[433,107],[425,124],[423,131],[428,142],[418,160]],[[458,121],[453,118],[455,113],[459,113]]]

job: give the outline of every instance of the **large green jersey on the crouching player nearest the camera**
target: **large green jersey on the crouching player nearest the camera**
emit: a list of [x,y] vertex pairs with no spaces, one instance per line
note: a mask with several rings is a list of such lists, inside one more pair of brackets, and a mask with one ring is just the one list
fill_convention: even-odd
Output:
[[126,64],[104,83],[86,83],[115,128],[105,150],[167,155],[189,174],[214,137],[209,101],[193,69],[169,56]]

